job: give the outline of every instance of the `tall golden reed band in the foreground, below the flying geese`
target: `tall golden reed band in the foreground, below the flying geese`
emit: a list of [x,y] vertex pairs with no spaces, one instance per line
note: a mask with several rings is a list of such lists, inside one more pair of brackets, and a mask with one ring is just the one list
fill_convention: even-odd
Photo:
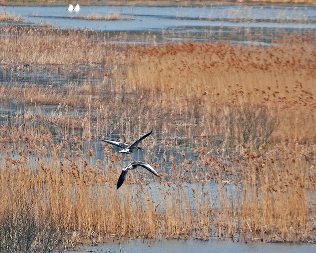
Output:
[[[37,215],[58,220],[66,234],[74,232],[77,236],[67,237],[73,243],[87,235],[97,241],[104,236],[316,240],[315,145],[282,142],[261,155],[244,150],[225,159],[202,149],[197,169],[182,154],[178,164],[171,159],[171,173],[158,168],[164,177],[157,194],[163,200],[155,203],[142,172],[129,173],[118,194],[123,158],[106,146],[104,160],[94,162],[93,150],[82,153],[79,137],[56,143],[45,127],[4,124],[0,138],[1,213],[32,204]],[[194,204],[183,180],[203,184],[198,192],[188,189]],[[208,180],[216,183],[215,191]],[[227,190],[229,183],[233,190]]]

